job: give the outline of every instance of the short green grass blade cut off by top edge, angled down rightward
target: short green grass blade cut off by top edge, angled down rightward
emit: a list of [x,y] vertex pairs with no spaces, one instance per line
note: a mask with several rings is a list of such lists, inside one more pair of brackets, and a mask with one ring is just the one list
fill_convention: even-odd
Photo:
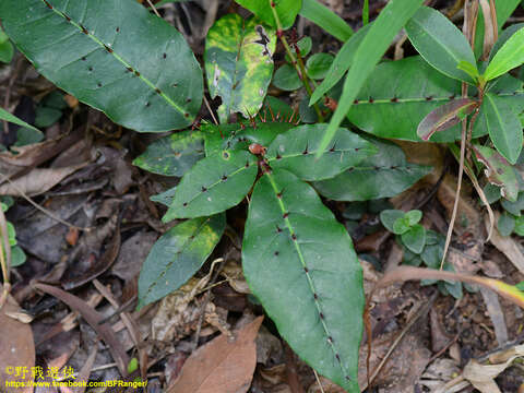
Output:
[[341,16],[317,0],[302,0],[299,14],[342,41],[353,35],[353,28]]

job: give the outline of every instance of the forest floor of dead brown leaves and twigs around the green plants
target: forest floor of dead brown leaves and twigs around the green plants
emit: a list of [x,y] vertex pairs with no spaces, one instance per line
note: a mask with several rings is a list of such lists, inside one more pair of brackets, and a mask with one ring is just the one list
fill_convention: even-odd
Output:
[[[159,10],[184,34],[199,59],[203,53],[203,32],[235,7],[230,1],[221,1],[215,9],[210,7],[212,2],[170,3]],[[358,1],[333,0],[330,5],[358,27]],[[371,1],[371,14],[383,5],[384,2]],[[433,2],[441,10],[451,5],[449,1]],[[336,53],[341,47],[341,43],[306,20],[298,22],[297,31],[299,36],[313,38],[313,51]],[[283,53],[282,48],[277,52]],[[388,53],[393,52],[394,45]],[[0,67],[2,106],[29,123],[52,92],[57,92],[56,87],[20,53],[10,64]],[[297,105],[297,97],[275,87],[270,94]],[[214,364],[216,369],[210,378],[216,378],[218,383],[221,372],[222,377],[226,372],[219,369],[221,356],[233,350],[238,352],[236,371],[225,376],[248,384],[249,392],[342,392],[330,381],[315,377],[278,336],[269,318],[258,334],[255,330],[253,333],[253,326],[260,323],[255,318],[263,314],[263,309],[252,301],[241,273],[239,239],[245,209],[228,212],[228,236],[194,278],[165,300],[134,311],[142,263],[156,239],[177,223],[163,224],[163,207],[151,202],[150,196],[175,186],[177,179],[152,175],[131,164],[159,134],[122,129],[73,97],[61,93],[60,96],[66,104],[59,119],[45,128],[44,141],[20,147],[16,154],[0,153],[0,172],[16,179],[14,190],[0,179],[0,194],[15,196],[7,218],[14,224],[19,245],[27,254],[27,261],[13,269],[11,277],[12,300],[24,312],[20,314],[14,303],[4,309],[0,313],[1,335],[3,343],[31,342],[25,354],[13,356],[0,347],[1,369],[36,354],[35,365],[44,369],[66,367],[78,380],[110,381],[121,379],[119,361],[135,357],[140,367],[132,376],[147,379],[148,392],[168,391],[166,386],[183,377],[189,393],[196,391],[191,385],[191,381],[196,382],[191,372],[198,371],[198,366],[182,370],[189,359],[196,365]],[[216,107],[217,102],[212,102],[212,106]],[[210,118],[205,107],[201,115]],[[17,128],[0,127],[0,143],[12,145]],[[445,235],[455,198],[456,163],[434,144],[400,145],[409,162],[432,165],[434,169],[412,189],[385,202],[402,210],[417,206],[424,212],[422,225]],[[343,217],[346,203],[327,204],[337,217]],[[524,281],[522,238],[496,234],[490,242],[485,242],[486,211],[467,181],[457,217],[449,257],[455,270],[509,284]],[[378,223],[377,214],[367,212],[359,218],[359,230],[354,231],[367,295],[383,272],[403,259],[394,236]],[[210,273],[211,261],[218,258],[225,263]],[[60,289],[52,290],[50,286]],[[70,295],[83,301],[71,300]],[[17,319],[24,322],[13,322],[8,309],[19,313]],[[98,323],[100,318],[108,323]],[[496,362],[493,354],[519,348],[524,341],[523,311],[505,299],[478,288],[464,288],[462,297],[455,299],[442,295],[436,285],[422,286],[419,282],[395,284],[376,293],[370,324],[368,392],[433,392],[453,379],[457,384],[442,392],[473,392],[468,382],[458,382],[463,371],[467,369],[481,380],[489,373],[483,361],[490,358]],[[107,329],[112,329],[112,333]],[[251,341],[255,336],[255,347],[248,345],[249,340],[231,344],[224,338],[234,331]],[[248,362],[245,359],[253,350],[254,376],[242,374],[248,372],[242,371]],[[368,383],[367,350],[366,341],[359,362],[362,388]],[[523,370],[519,361],[501,366],[488,380],[495,378],[502,392],[521,392]],[[37,392],[73,391],[60,389]]]

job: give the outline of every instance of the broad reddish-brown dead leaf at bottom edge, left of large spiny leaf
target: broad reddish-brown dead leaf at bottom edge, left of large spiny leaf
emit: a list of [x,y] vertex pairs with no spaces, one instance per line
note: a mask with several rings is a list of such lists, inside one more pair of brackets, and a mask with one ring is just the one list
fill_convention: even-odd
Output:
[[245,393],[257,366],[254,340],[263,317],[243,326],[230,342],[222,334],[196,349],[168,393]]

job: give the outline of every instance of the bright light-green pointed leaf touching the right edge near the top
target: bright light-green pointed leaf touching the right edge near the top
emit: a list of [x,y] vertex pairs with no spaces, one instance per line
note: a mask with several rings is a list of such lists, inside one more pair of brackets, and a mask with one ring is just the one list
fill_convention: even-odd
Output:
[[484,73],[486,81],[524,63],[524,27],[515,32],[497,51]]

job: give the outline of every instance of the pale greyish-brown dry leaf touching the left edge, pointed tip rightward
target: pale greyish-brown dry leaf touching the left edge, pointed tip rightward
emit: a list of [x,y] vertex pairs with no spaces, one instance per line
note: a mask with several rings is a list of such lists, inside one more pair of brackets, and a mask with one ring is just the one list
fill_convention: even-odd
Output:
[[73,165],[64,168],[39,169],[34,168],[27,175],[22,176],[12,182],[0,186],[0,195],[34,196],[57,186],[69,175],[86,166],[87,163]]

